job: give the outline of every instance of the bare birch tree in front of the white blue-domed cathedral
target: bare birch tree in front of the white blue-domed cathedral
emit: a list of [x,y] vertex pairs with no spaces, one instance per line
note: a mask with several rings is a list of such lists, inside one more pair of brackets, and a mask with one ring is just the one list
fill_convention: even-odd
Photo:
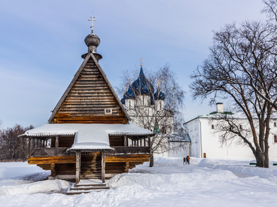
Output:
[[137,126],[156,132],[150,141],[150,166],[153,166],[154,152],[163,153],[180,147],[169,146],[168,139],[173,133],[184,134],[182,127],[184,120],[180,111],[184,105],[184,90],[177,83],[175,73],[170,71],[169,66],[164,66],[157,72],[148,72],[145,84],[150,90],[147,95],[141,94],[141,88],[131,85],[129,79],[130,74],[132,74],[132,80],[137,79],[135,73],[137,70],[136,72],[127,70],[122,77],[123,83],[134,97],[126,96],[127,88],[126,91],[122,87],[117,89],[118,93],[126,98],[125,108],[132,122]]

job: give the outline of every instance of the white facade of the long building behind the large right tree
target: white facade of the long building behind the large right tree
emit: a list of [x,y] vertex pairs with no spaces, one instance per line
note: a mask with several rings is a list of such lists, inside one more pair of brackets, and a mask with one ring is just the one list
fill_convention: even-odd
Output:
[[[222,108],[221,108],[222,107]],[[223,106],[217,106],[217,110],[223,110]],[[203,158],[253,158],[253,152],[240,137],[222,146],[218,122],[212,121],[213,115],[199,116],[184,124],[191,139],[191,156]],[[241,128],[248,126],[247,119],[238,118]],[[269,159],[277,159],[277,121],[271,120],[269,135]],[[274,140],[274,136],[276,136]],[[249,139],[250,141],[251,139]]]

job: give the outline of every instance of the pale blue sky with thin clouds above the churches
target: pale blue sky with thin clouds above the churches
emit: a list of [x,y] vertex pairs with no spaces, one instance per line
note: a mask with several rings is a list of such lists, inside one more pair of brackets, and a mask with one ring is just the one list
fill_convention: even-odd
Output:
[[[208,57],[213,30],[265,19],[261,0],[0,2],[1,127],[46,124],[87,52],[91,12],[100,65],[113,86],[129,68],[170,65],[186,90],[186,121],[215,110],[190,97],[189,75]],[[218,100],[222,101],[222,100]]]

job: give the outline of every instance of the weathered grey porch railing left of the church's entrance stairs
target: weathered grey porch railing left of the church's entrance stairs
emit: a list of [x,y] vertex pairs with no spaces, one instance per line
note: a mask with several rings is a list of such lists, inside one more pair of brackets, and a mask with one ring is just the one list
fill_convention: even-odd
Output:
[[69,155],[68,148],[33,148],[30,157]]

